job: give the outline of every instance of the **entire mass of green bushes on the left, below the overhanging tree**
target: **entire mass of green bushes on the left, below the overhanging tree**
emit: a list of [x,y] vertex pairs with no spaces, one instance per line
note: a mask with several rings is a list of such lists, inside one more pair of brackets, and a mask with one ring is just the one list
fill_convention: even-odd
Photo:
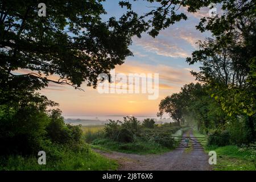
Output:
[[82,144],[80,126],[65,124],[58,109],[46,110],[52,103],[43,96],[35,94],[32,99],[0,105],[0,155],[38,154],[45,143],[77,150]]

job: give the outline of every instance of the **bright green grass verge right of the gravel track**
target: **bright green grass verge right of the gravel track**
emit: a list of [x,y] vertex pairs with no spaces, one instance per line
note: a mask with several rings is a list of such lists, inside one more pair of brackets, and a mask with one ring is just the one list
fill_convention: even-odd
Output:
[[[205,137],[197,131],[193,131],[195,137]],[[204,144],[205,151],[216,151],[217,164],[213,165],[214,171],[255,171],[256,168],[249,160],[249,152],[241,151],[237,146],[207,146]]]

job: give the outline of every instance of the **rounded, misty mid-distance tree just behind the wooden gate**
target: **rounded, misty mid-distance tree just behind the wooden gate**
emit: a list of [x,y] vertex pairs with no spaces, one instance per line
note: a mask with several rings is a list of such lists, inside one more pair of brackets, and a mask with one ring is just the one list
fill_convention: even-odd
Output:
[[196,125],[198,131],[223,128],[228,121],[221,105],[210,97],[208,85],[186,84],[179,93],[164,98],[159,105],[159,116],[169,113],[175,121]]

